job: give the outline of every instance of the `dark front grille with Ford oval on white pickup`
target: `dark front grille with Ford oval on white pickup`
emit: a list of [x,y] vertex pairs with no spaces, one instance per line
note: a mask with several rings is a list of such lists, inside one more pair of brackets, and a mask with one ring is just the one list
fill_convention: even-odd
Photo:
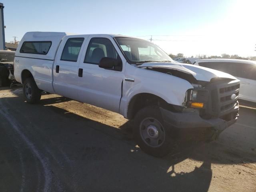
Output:
[[220,81],[209,84],[211,100],[208,104],[208,114],[216,117],[224,116],[234,111],[239,94],[240,81]]

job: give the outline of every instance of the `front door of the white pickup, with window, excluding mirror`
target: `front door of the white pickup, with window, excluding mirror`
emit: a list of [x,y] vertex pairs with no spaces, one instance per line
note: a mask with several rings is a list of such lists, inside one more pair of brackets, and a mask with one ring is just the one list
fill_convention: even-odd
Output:
[[[119,112],[124,78],[124,58],[113,38],[104,35],[91,35],[84,47],[79,63],[78,86],[79,100]],[[105,69],[98,66],[103,57],[120,60],[116,69]]]

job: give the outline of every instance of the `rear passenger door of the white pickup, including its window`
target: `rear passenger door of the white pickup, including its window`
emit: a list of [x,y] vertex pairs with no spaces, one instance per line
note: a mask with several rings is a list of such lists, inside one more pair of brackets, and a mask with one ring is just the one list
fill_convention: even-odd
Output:
[[85,41],[85,36],[66,36],[62,40],[53,68],[53,88],[57,94],[78,99],[78,65]]

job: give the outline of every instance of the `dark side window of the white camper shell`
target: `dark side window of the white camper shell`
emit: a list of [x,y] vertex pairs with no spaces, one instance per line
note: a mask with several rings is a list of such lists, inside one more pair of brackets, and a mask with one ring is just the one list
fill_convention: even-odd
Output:
[[51,41],[25,41],[20,48],[20,53],[46,55],[51,45]]

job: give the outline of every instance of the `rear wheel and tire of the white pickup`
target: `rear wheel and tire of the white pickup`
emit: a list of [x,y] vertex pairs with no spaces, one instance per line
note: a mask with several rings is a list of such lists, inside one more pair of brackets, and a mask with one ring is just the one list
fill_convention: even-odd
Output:
[[27,78],[23,83],[23,96],[26,102],[34,104],[41,99],[42,91],[38,89],[34,78]]

